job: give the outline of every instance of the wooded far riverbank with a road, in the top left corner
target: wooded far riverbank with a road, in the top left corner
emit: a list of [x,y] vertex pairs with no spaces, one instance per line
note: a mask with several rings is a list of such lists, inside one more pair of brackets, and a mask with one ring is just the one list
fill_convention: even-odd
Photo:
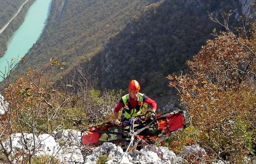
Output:
[[[9,20],[17,13],[19,7],[22,6],[24,0],[1,0],[0,4],[0,29],[9,22]],[[13,19],[11,24],[9,24],[8,28],[0,34],[0,57],[6,51],[6,46],[9,38],[11,38],[14,31],[18,29],[18,27],[22,24],[24,17],[28,11],[28,8],[31,4],[35,2],[35,0],[29,0],[19,12],[16,18]]]

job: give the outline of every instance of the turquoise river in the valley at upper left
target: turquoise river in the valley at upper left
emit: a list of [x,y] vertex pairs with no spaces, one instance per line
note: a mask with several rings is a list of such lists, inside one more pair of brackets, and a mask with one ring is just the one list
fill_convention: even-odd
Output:
[[[28,9],[24,22],[14,32],[8,42],[7,51],[0,58],[0,71],[6,72],[8,63],[12,59],[19,60],[25,56],[29,48],[40,38],[43,29],[45,29],[48,14],[50,13],[52,0],[36,0]],[[1,73],[0,72],[0,73]],[[2,73],[0,74],[2,76]],[[0,77],[0,81],[3,78]]]

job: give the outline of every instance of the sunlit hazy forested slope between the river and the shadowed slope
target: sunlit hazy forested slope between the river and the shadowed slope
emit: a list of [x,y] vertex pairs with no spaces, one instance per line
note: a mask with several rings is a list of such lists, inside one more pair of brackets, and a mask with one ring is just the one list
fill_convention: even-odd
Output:
[[[66,62],[65,70],[70,71],[98,52],[110,36],[119,33],[135,13],[152,2],[156,1],[53,0],[45,32],[16,73],[22,75],[29,66],[42,68],[51,58]],[[53,77],[58,77],[56,74]]]

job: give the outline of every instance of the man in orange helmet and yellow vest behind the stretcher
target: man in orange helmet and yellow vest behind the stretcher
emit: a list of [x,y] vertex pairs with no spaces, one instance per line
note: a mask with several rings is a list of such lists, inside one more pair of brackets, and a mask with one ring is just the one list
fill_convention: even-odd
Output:
[[122,96],[120,102],[117,104],[114,110],[115,125],[120,125],[118,120],[118,113],[122,108],[123,120],[129,120],[131,117],[139,116],[142,110],[143,103],[151,105],[152,111],[156,111],[156,102],[146,95],[139,93],[140,84],[133,79],[128,88],[129,94]]

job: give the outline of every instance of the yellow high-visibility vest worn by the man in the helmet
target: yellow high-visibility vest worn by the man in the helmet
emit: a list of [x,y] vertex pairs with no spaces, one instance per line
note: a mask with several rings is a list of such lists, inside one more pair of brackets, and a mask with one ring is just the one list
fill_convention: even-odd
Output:
[[129,105],[129,97],[130,97],[129,94],[127,94],[125,96],[122,96],[122,101],[125,104],[125,106],[124,106],[124,108],[122,110],[122,115],[125,118],[127,118],[127,119],[140,115],[140,113],[142,111],[144,94],[138,93],[138,96],[137,96],[138,104],[137,105],[139,105],[139,109],[136,109],[136,108],[129,109],[129,107],[128,107],[128,105]]

